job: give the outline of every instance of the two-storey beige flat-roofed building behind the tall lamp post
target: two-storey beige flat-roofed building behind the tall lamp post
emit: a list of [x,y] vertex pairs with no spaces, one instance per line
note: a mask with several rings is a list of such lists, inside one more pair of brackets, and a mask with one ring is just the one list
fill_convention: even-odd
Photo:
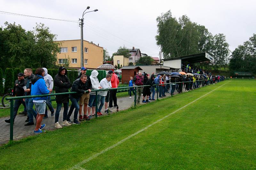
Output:
[[[57,63],[62,64],[69,59],[69,68],[81,68],[81,40],[63,40],[60,42],[60,53]],[[103,64],[103,47],[84,40],[84,67],[95,69]]]

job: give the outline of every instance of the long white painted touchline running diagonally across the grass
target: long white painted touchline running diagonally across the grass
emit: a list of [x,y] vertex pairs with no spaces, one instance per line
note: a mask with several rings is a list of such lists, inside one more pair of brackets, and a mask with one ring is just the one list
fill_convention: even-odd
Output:
[[[230,81],[228,81],[228,82],[230,82]],[[226,82],[225,84],[227,84],[228,82]],[[225,84],[222,84],[221,86],[224,86]],[[214,89],[214,90],[219,89],[221,86],[217,87],[217,88]],[[92,159],[96,158],[97,156],[101,155],[102,153],[105,153],[105,152],[107,152],[108,150],[110,150],[110,149],[112,149],[112,148],[114,148],[114,147],[120,145],[120,144],[123,143],[124,141],[126,141],[126,140],[132,138],[133,136],[139,134],[140,132],[145,131],[146,129],[148,129],[149,127],[153,126],[154,124],[156,124],[156,123],[158,123],[158,122],[164,120],[165,118],[171,116],[172,114],[176,113],[177,111],[180,111],[181,109],[183,109],[183,108],[187,107],[188,105],[190,105],[190,104],[196,102],[197,100],[201,99],[202,97],[204,97],[204,96],[206,96],[206,95],[212,93],[214,90],[212,90],[212,91],[210,91],[209,93],[206,93],[205,95],[203,95],[203,96],[197,98],[197,99],[194,100],[193,102],[190,102],[190,103],[186,104],[185,106],[181,107],[180,109],[175,110],[174,112],[172,112],[172,113],[166,115],[165,117],[163,117],[163,118],[161,118],[161,119],[158,119],[156,122],[154,122],[154,123],[152,123],[152,124],[149,124],[149,125],[146,126],[145,128],[143,128],[143,129],[141,129],[141,130],[139,130],[139,131],[133,133],[132,135],[130,135],[130,136],[128,136],[128,137],[126,137],[126,138],[120,140],[120,141],[117,142],[116,144],[107,147],[106,149],[102,150],[101,152],[98,152],[98,153],[92,155],[91,157],[89,157],[89,158],[87,158],[87,159],[84,159],[83,161],[77,163],[75,166],[73,166],[73,167],[71,167],[71,168],[69,168],[69,169],[70,169],[70,170],[73,170],[73,169],[84,170],[84,168],[82,168],[81,165],[83,165],[83,164],[89,162],[90,160],[92,160]]]

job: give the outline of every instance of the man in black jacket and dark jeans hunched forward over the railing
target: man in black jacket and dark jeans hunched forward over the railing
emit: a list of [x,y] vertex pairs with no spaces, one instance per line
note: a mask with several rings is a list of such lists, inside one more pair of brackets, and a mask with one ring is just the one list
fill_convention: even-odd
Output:
[[[71,88],[71,92],[75,91],[77,92],[76,94],[70,94],[70,101],[72,102],[72,105],[70,106],[70,109],[68,111],[68,116],[67,116],[67,121],[69,123],[71,123],[70,121],[70,116],[73,112],[73,110],[75,109],[74,112],[74,120],[73,120],[73,124],[80,124],[77,121],[77,114],[79,111],[79,104],[78,101],[81,98],[82,95],[86,94],[85,91],[91,91],[91,89],[89,89],[89,83],[87,82],[87,75],[82,74],[80,79],[76,79],[76,81],[74,81],[72,88]],[[87,92],[89,94],[89,92]],[[87,116],[86,116],[86,112],[84,114],[84,120],[90,120]]]

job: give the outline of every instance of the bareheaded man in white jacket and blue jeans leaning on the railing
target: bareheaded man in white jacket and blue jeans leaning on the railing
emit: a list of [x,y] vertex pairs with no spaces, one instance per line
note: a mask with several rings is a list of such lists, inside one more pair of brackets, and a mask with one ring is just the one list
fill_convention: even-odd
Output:
[[[106,78],[102,79],[100,81],[100,87],[102,87],[102,89],[111,89],[111,75],[107,74]],[[108,94],[108,90],[104,90],[104,91],[99,91],[98,93],[98,111],[97,111],[97,115],[100,116],[102,115],[101,113],[101,109],[105,103],[105,97]]]

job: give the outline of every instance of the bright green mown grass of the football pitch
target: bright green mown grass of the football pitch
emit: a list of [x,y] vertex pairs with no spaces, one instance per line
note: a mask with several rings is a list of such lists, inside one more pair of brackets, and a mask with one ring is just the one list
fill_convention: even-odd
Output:
[[0,149],[0,169],[71,168],[213,89],[81,167],[255,169],[255,88],[256,81],[224,81],[28,137]]

